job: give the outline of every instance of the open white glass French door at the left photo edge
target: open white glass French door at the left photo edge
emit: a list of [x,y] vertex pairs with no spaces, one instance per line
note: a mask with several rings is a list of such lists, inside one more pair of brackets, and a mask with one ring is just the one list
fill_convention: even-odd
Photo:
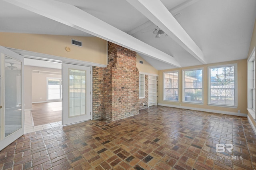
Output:
[[24,57],[0,46],[0,150],[24,134]]

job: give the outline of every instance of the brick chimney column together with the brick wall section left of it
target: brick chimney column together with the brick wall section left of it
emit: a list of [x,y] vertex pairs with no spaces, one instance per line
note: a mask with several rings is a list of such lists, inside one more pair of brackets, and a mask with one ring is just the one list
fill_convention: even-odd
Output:
[[107,67],[93,67],[93,119],[116,121],[139,114],[139,107],[136,52],[108,42]]

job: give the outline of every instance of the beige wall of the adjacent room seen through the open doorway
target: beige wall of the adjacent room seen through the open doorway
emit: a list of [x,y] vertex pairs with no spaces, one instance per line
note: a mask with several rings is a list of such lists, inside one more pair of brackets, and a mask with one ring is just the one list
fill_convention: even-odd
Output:
[[[24,66],[24,103],[25,109],[32,109],[32,102],[46,101],[46,77],[59,77],[61,75],[32,73],[32,70],[52,71],[61,73],[61,69]],[[42,99],[40,99],[42,98]]]

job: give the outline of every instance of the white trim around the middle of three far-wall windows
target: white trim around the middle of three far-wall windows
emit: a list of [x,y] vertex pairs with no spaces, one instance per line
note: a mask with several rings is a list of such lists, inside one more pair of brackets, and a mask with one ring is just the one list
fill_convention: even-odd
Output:
[[[185,71],[192,71],[192,70],[200,70],[202,69],[202,102],[193,102],[193,101],[185,101],[184,97],[184,83],[185,83],[185,76],[184,72]],[[182,70],[182,103],[189,103],[189,104],[196,104],[196,105],[204,105],[204,67],[199,67],[199,68],[193,68],[193,69],[183,69]]]

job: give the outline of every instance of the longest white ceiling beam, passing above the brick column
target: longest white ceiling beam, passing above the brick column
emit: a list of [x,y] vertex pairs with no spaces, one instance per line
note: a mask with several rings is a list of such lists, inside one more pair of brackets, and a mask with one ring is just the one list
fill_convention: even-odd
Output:
[[116,43],[175,67],[181,67],[174,57],[118,30],[102,20],[70,4],[54,0],[5,0],[11,4],[76,28],[93,36]]

